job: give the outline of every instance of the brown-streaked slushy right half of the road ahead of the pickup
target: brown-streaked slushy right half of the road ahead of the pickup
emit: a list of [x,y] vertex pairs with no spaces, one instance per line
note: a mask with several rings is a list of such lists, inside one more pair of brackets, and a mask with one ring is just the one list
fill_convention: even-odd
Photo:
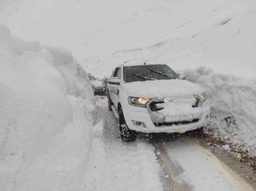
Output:
[[[161,152],[160,164],[171,178],[170,190],[254,190],[209,149],[200,146],[198,136],[187,135],[164,134],[153,138],[156,151]],[[189,187],[176,186],[175,180]]]

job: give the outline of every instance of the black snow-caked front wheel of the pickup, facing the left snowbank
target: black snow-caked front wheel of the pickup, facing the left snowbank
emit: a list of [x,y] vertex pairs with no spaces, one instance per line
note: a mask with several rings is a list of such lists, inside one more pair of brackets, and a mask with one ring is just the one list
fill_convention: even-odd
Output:
[[119,110],[118,117],[119,117],[119,119],[118,119],[119,132],[120,132],[122,141],[124,141],[124,142],[135,141],[135,139],[136,139],[135,131],[133,131],[127,127],[122,108],[120,108],[120,110]]

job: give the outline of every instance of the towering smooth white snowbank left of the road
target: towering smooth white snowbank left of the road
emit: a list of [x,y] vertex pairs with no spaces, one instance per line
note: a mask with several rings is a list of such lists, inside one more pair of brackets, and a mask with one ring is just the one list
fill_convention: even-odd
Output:
[[1,190],[72,190],[92,142],[94,97],[71,52],[0,26]]

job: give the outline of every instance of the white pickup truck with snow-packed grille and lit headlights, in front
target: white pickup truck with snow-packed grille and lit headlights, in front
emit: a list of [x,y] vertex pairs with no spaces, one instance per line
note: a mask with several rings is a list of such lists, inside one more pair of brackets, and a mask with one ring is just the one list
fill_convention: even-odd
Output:
[[118,65],[108,78],[108,108],[123,141],[134,141],[137,131],[184,133],[210,117],[204,89],[164,64]]

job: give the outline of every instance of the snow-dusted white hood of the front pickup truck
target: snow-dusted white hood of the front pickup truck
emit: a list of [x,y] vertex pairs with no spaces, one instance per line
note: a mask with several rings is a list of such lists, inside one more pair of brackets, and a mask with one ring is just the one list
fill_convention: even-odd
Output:
[[200,86],[186,80],[147,80],[123,84],[124,90],[133,97],[161,98],[204,93]]

